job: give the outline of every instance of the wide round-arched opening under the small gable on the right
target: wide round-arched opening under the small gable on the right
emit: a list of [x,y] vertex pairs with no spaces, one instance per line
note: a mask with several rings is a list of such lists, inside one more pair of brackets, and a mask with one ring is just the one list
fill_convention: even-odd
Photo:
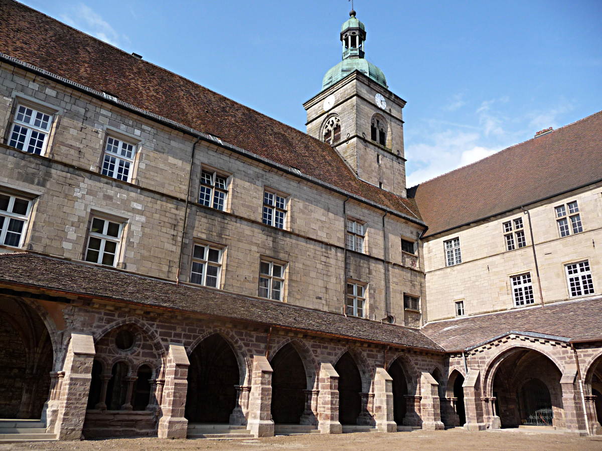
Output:
[[[492,394],[503,428],[520,425],[564,427],[558,367],[531,349],[512,349],[500,357]],[[536,378],[533,376],[536,375]]]

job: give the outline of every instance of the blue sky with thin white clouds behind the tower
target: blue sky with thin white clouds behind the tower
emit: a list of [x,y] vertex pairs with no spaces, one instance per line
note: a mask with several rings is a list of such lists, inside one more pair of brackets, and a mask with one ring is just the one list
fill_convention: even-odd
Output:
[[[22,0],[298,129],[346,0]],[[405,99],[408,186],[602,109],[602,0],[356,0]]]

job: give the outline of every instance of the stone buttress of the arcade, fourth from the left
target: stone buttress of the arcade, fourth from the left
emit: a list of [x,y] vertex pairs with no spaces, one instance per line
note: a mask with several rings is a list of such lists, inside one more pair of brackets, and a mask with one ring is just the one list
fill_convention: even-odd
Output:
[[338,373],[330,363],[320,363],[318,375],[318,429],[321,434],[341,434],[338,420]]

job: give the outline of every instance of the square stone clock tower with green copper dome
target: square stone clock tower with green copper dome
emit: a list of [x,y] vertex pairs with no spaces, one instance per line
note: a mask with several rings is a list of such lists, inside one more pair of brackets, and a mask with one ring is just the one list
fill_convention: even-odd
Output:
[[406,102],[365,59],[366,28],[355,11],[349,16],[341,26],[340,63],[326,72],[320,93],[303,103],[307,132],[334,147],[360,179],[405,197]]

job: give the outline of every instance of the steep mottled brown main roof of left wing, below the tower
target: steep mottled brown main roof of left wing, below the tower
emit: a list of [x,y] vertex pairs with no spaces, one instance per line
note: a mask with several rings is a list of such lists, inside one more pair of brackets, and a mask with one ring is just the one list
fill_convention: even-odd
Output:
[[362,182],[306,133],[13,0],[0,0],[0,23],[4,54],[420,219],[413,200]]

